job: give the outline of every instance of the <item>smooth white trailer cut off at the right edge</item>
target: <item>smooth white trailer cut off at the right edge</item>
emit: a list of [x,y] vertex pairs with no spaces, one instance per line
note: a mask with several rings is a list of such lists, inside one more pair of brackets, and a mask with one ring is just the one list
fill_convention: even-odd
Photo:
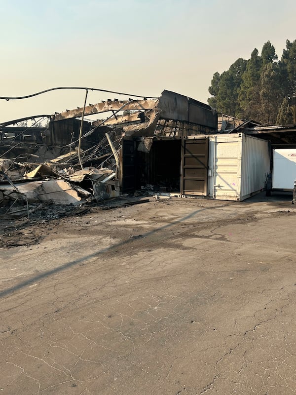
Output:
[[296,149],[273,150],[272,189],[293,189],[296,180]]

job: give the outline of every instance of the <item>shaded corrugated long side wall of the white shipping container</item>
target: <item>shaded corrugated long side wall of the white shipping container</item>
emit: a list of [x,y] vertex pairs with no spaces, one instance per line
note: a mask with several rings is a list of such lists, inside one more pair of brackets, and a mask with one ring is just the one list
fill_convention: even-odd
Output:
[[240,200],[264,188],[270,171],[270,148],[266,140],[243,135]]

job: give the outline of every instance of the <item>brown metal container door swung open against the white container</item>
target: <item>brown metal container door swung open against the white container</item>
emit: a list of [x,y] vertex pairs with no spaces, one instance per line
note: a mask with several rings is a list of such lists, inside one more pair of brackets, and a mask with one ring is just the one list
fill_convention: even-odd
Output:
[[209,139],[182,142],[182,195],[207,195]]

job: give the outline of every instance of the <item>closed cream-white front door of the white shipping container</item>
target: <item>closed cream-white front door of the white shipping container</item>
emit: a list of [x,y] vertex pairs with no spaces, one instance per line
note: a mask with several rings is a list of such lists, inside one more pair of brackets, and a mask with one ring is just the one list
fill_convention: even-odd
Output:
[[[217,142],[214,174],[214,197],[236,200],[239,196],[241,144],[235,142]],[[214,153],[215,155],[215,153]]]

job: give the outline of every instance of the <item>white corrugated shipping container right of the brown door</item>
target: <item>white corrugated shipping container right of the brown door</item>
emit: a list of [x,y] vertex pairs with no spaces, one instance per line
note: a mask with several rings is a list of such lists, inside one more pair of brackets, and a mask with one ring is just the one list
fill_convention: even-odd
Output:
[[208,196],[241,201],[264,189],[270,145],[243,133],[210,136]]

